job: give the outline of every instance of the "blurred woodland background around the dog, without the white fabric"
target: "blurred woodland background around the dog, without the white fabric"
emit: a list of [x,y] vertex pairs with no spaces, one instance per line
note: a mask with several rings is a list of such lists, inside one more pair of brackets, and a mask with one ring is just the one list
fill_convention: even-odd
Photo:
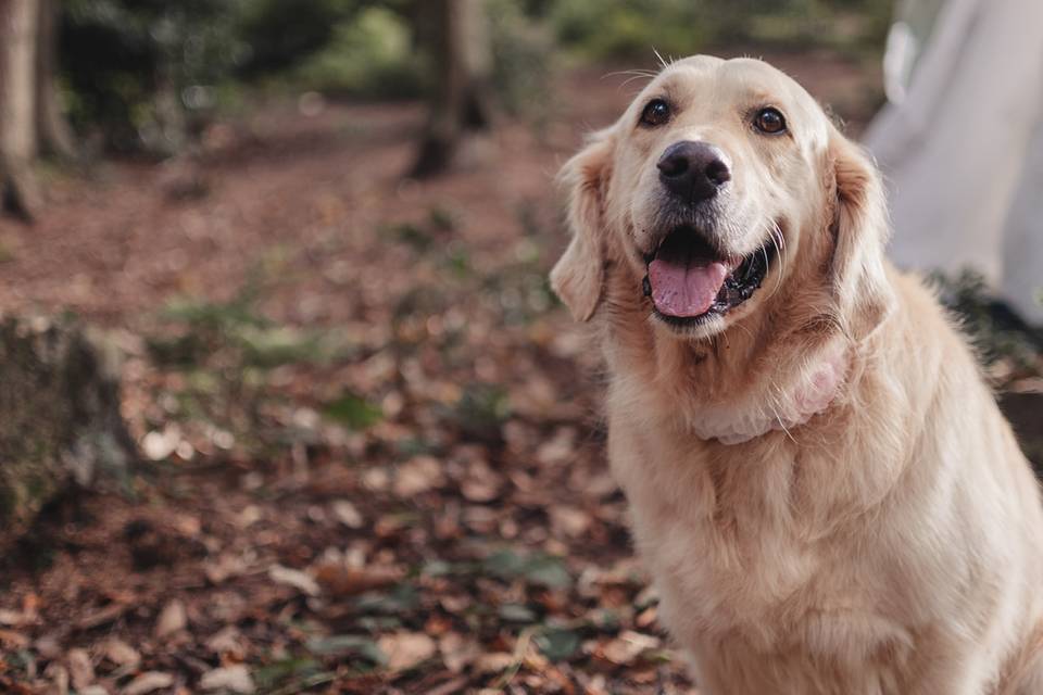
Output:
[[[0,691],[698,692],[553,177],[659,56],[858,137],[945,4],[0,0]],[[933,281],[1039,464],[1034,290],[979,270]]]

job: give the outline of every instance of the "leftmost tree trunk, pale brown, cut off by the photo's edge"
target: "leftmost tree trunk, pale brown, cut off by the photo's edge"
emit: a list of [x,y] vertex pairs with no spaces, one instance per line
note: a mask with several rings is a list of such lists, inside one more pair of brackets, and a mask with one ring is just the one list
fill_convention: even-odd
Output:
[[36,156],[37,0],[0,0],[0,187],[3,202],[32,218],[39,206]]

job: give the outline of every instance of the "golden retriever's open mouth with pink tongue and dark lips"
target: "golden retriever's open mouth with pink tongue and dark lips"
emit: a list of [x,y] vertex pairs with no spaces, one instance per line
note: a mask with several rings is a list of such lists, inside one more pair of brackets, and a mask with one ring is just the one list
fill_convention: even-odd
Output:
[[643,287],[657,317],[670,324],[700,323],[739,306],[761,287],[775,251],[765,244],[729,258],[693,227],[675,228],[645,256]]

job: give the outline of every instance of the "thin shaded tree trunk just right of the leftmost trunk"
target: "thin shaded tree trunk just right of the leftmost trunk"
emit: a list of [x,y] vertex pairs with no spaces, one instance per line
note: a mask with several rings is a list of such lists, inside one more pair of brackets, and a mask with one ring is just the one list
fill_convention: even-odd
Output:
[[76,159],[72,128],[62,113],[54,74],[58,70],[58,0],[39,0],[40,17],[36,48],[36,128],[39,144],[61,160]]

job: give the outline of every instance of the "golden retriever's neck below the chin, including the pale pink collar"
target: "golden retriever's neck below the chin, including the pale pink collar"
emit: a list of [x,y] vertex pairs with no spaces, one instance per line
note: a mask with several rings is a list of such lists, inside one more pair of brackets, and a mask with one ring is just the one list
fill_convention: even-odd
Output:
[[[739,330],[690,342],[649,318],[629,282],[613,285],[603,342],[612,371],[626,374],[633,392],[659,391],[666,397],[656,402],[670,408],[663,415],[701,440],[738,444],[800,427],[828,409],[849,379],[850,342],[828,321],[808,320],[814,313],[751,317]],[[780,325],[819,328],[779,336]]]

